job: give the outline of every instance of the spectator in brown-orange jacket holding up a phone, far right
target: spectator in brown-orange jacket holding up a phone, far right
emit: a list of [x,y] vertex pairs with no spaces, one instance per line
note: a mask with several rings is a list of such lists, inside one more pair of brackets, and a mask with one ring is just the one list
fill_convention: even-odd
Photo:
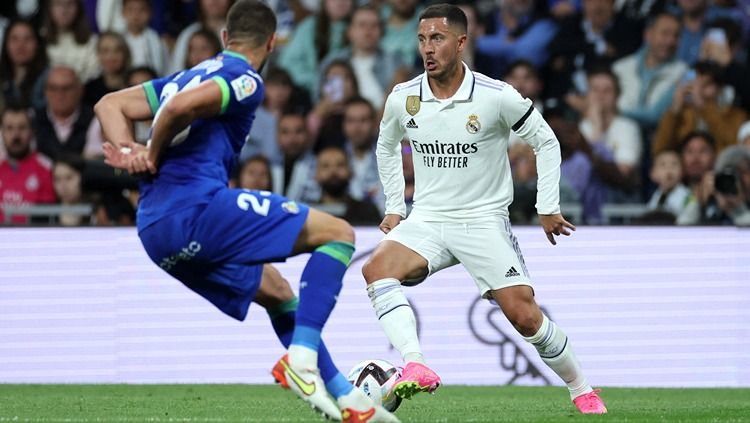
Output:
[[736,143],[744,110],[722,104],[721,69],[709,62],[698,62],[688,75],[695,78],[683,82],[674,92],[672,107],[665,113],[654,135],[653,154],[676,149],[679,142],[695,130],[708,131],[716,141],[717,152]]

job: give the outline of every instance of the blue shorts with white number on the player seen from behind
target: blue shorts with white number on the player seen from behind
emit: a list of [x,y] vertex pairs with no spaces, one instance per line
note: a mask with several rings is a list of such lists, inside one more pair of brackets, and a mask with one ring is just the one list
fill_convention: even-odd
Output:
[[308,212],[307,206],[280,195],[227,188],[206,205],[139,227],[139,236],[162,270],[244,320],[263,264],[292,254]]

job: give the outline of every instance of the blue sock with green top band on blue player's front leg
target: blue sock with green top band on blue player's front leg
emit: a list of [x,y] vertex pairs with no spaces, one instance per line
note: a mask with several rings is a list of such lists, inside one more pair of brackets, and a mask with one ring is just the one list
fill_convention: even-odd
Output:
[[318,247],[310,256],[299,285],[299,308],[292,345],[317,351],[320,332],[336,305],[341,280],[352,254],[353,244],[329,242]]

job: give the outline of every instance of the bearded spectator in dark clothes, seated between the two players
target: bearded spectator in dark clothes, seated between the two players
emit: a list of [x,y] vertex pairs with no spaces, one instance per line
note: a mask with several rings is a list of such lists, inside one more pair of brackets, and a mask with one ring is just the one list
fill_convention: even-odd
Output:
[[[349,195],[351,169],[346,153],[339,147],[326,147],[318,153],[315,180],[320,185],[320,201],[326,210],[352,225],[378,225],[382,216],[369,200]],[[341,207],[342,210],[336,210]]]

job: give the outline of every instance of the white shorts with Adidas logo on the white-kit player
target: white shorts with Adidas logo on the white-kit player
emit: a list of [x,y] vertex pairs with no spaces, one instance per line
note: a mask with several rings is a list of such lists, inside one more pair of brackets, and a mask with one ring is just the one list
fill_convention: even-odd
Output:
[[[427,260],[427,276],[463,264],[485,298],[496,289],[531,286],[518,241],[502,216],[467,223],[424,222],[410,216],[383,240],[396,241]],[[416,285],[427,276],[403,283]]]

